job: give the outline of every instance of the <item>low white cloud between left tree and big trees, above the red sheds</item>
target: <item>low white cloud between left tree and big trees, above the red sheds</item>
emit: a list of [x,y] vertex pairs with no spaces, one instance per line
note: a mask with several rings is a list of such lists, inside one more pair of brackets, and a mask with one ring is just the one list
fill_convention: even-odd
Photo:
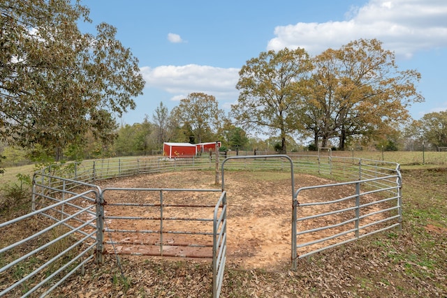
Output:
[[173,94],[172,100],[185,98],[191,92],[203,92],[217,100],[235,100],[239,68],[218,68],[188,64],[185,66],[149,66],[140,69],[147,87]]

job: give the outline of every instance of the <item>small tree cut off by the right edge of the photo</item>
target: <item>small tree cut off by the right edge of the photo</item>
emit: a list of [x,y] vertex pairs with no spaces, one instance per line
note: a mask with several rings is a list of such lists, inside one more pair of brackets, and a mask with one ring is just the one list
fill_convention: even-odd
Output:
[[420,119],[423,140],[434,147],[447,147],[447,111],[425,114]]

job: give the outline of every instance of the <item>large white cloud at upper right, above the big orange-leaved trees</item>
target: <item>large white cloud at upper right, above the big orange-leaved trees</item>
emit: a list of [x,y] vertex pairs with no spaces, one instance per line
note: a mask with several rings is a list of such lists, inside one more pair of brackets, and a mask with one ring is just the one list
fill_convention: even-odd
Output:
[[319,54],[358,38],[377,38],[386,50],[411,57],[414,52],[447,47],[447,1],[370,0],[351,8],[340,22],[303,23],[279,26],[268,50],[303,47]]

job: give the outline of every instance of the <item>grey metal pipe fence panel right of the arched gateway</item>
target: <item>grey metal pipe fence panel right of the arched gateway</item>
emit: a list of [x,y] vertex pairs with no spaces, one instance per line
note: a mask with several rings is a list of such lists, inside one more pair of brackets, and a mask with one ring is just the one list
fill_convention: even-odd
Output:
[[[394,183],[391,182],[393,180]],[[327,188],[331,191],[338,187],[349,188],[352,194],[336,200],[300,202],[300,195],[305,191],[314,193]],[[298,207],[293,208],[293,269],[296,269],[297,260],[300,258],[377,232],[401,228],[401,188],[402,177],[398,167],[395,174],[386,176],[299,188],[293,198],[293,206]],[[325,209],[325,205],[330,207]],[[306,208],[307,211],[303,213],[312,215],[299,218],[298,210]],[[296,228],[298,224],[302,225],[302,229]],[[311,237],[303,237],[305,235]],[[302,241],[298,241],[300,237],[303,238]],[[298,254],[300,248],[307,248],[307,252]]]

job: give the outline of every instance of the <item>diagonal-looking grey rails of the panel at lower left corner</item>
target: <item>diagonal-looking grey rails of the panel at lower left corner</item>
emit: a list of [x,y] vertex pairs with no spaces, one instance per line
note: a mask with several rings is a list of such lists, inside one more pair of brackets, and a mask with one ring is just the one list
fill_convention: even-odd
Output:
[[[19,218],[15,218],[11,221],[0,224],[0,228],[6,228],[9,225],[18,223],[19,221],[27,221],[31,219],[33,221],[40,221],[43,225],[45,223],[48,224],[46,228],[41,228],[41,230],[39,230],[38,232],[34,232],[34,234],[30,234],[29,236],[25,235],[24,239],[20,239],[12,244],[0,248],[0,253],[3,254],[2,258],[12,259],[8,260],[8,264],[0,268],[0,274],[6,274],[6,272],[10,270],[20,271],[22,269],[17,268],[26,268],[26,263],[29,262],[29,260],[34,260],[34,262],[37,262],[36,267],[33,267],[29,272],[24,272],[20,278],[18,278],[13,283],[10,283],[7,288],[1,290],[0,296],[7,294],[11,295],[11,292],[17,290],[17,287],[26,283],[27,286],[29,286],[31,289],[27,289],[22,297],[28,297],[29,295],[39,290],[42,285],[44,285],[45,283],[49,283],[54,276],[59,276],[59,278],[66,278],[68,276],[71,276],[71,274],[74,273],[73,270],[76,269],[73,269],[72,267],[70,267],[70,265],[75,262],[84,263],[84,260],[82,260],[82,258],[85,253],[89,252],[93,255],[93,248],[96,247],[97,242],[92,239],[92,237],[94,234],[96,234],[97,231],[93,228],[91,229],[91,232],[86,234],[84,231],[82,231],[82,229],[86,228],[87,226],[90,226],[91,228],[91,223],[94,223],[96,221],[95,217],[91,218],[89,221],[85,221],[81,225],[76,225],[73,228],[60,230],[60,232],[55,231],[57,231],[59,227],[64,227],[65,225],[67,225],[69,221],[73,221],[74,218],[81,216],[82,214],[87,214],[87,211],[95,208],[95,204],[88,204],[86,207],[73,208],[72,214],[66,214],[67,216],[62,219],[59,218],[55,222],[51,221],[52,224],[38,219],[38,216],[44,216],[42,218],[45,218],[45,212],[51,211],[54,208],[61,207],[64,204],[68,204],[69,202],[78,200],[78,198],[82,198],[89,193],[93,193],[95,195],[97,194],[95,190],[85,191],[78,195],[73,195],[73,197],[71,198],[65,198],[64,200],[52,203],[46,207],[43,207],[36,211],[32,211],[24,216],[20,216]],[[84,232],[85,234],[84,237],[79,238],[76,236],[77,234],[82,234],[82,232]],[[34,244],[36,242],[36,239],[39,239],[40,241],[43,240],[45,242],[36,246]],[[67,241],[66,239],[71,240]],[[85,246],[87,246],[87,248],[85,248]],[[72,255],[72,252],[75,249],[79,250],[82,247],[85,248],[85,253],[78,253],[73,258],[68,257],[71,259],[68,262],[64,260],[65,258],[67,258],[68,255]],[[17,255],[17,257],[15,257],[17,250],[20,251],[21,255]],[[52,255],[52,257],[44,258],[44,255]],[[61,263],[56,271],[54,271],[54,269],[52,268],[55,262],[58,262],[57,264],[59,264],[59,262]],[[62,274],[63,272],[64,275],[60,276],[60,274]]]

